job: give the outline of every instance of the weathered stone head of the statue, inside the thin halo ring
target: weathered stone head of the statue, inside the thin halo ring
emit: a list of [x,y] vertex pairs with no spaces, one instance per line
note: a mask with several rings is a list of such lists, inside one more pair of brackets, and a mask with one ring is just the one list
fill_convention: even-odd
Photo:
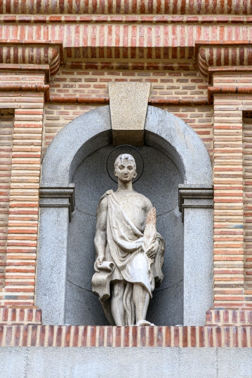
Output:
[[118,180],[128,182],[133,180],[136,176],[135,159],[130,154],[121,154],[114,162],[114,175]]

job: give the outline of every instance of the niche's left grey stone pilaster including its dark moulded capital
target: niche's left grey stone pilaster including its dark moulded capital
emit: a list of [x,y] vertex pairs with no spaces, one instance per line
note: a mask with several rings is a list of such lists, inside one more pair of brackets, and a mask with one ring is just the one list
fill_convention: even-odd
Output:
[[36,304],[44,324],[65,323],[68,227],[74,211],[74,186],[43,187],[37,255]]

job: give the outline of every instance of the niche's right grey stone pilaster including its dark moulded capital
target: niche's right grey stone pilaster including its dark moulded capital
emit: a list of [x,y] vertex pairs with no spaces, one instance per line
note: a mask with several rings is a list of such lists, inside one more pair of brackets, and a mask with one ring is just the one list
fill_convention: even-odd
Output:
[[213,188],[180,185],[184,222],[184,325],[204,325],[213,305]]

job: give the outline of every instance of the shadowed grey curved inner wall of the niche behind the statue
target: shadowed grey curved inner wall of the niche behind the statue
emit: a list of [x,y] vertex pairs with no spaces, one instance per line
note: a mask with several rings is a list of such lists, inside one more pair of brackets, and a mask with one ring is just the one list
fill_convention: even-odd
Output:
[[[90,154],[75,171],[76,208],[69,224],[67,298],[65,323],[108,325],[98,297],[91,288],[95,261],[95,213],[98,201],[117,184],[107,175],[106,161],[114,147]],[[166,243],[164,281],[154,290],[147,320],[156,325],[183,324],[183,223],[178,210],[178,184],[183,177],[166,154],[153,147],[139,147],[145,170],[133,189],[150,198],[157,208],[157,230]],[[130,151],[130,153],[132,153]],[[133,153],[132,153],[133,154]],[[133,154],[136,158],[137,154]]]

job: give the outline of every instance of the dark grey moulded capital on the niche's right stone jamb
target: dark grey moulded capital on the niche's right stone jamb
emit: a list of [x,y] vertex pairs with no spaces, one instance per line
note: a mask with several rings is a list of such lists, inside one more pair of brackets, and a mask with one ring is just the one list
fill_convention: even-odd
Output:
[[213,208],[213,187],[180,185],[178,188],[178,208],[184,222],[185,208]]

